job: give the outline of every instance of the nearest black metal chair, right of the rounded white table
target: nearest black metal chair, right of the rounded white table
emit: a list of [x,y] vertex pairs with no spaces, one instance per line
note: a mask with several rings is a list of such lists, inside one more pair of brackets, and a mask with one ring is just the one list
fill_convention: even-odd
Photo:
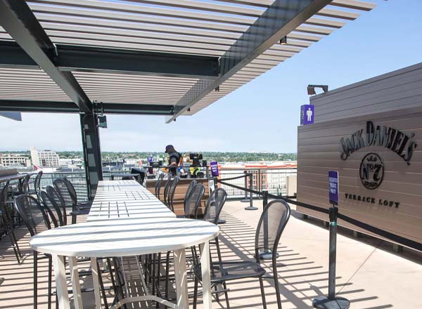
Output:
[[[274,280],[278,308],[281,309],[281,296],[277,273],[277,247],[288,219],[290,218],[290,206],[282,200],[276,199],[264,208],[255,233],[255,261],[218,261],[211,263],[211,284],[222,284],[230,280],[245,278],[258,278],[262,296],[262,305],[267,309],[265,300],[263,278]],[[260,252],[271,253],[272,276],[265,276],[266,271],[260,265]],[[200,263],[193,268],[195,272],[195,286],[193,296],[193,308],[198,301],[198,282],[201,280]],[[214,291],[218,293],[219,291]],[[228,303],[228,301],[227,301]],[[229,305],[228,305],[229,306]]]

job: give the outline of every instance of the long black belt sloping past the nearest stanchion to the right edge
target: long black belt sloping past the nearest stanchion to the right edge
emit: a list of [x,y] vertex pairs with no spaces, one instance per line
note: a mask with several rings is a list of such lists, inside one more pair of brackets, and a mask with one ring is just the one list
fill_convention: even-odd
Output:
[[[224,180],[229,180],[229,179],[224,179]],[[242,188],[242,187],[239,187],[238,185],[226,183],[222,180],[217,180],[217,183],[221,183],[222,185],[228,185],[229,187],[236,188],[238,190],[244,190],[244,191],[247,191],[247,192],[251,192],[255,195],[263,195],[263,193],[260,192],[260,191],[252,190],[252,189],[248,189],[248,188]],[[268,197],[270,197],[272,199],[282,199],[283,201],[285,201],[287,203],[295,204],[297,206],[301,206],[301,207],[306,208],[306,209],[311,209],[313,211],[318,211],[318,212],[326,213],[326,214],[329,213],[328,209],[325,209],[325,208],[322,208],[322,207],[319,207],[319,206],[314,206],[314,205],[307,204],[307,203],[298,202],[298,201],[295,201],[293,199],[288,199],[286,197],[281,197],[281,196],[278,196],[278,195],[271,195],[271,194],[268,194]],[[342,213],[338,213],[337,216],[338,216],[339,219],[341,219],[343,221],[346,221],[346,222],[348,222],[352,225],[356,225],[357,227],[362,228],[364,230],[367,230],[369,232],[372,232],[373,234],[380,235],[381,237],[384,237],[386,239],[390,239],[392,242],[397,242],[398,244],[402,244],[403,246],[407,246],[409,248],[412,248],[412,249],[415,249],[415,250],[418,250],[418,251],[422,251],[422,244],[419,243],[419,242],[415,242],[414,240],[407,239],[405,237],[392,234],[391,232],[388,232],[386,230],[381,230],[381,228],[376,228],[373,225],[369,225],[367,223],[357,221],[356,219],[350,218],[349,216],[345,216]]]

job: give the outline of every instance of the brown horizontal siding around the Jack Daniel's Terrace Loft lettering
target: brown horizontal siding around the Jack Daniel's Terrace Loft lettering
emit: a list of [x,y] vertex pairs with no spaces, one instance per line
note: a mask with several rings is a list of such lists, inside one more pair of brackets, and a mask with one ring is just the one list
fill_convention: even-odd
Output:
[[[421,71],[422,72],[422,71]],[[359,91],[358,91],[359,92]],[[421,97],[421,96],[420,96]],[[350,138],[359,129],[366,131],[366,121],[376,126],[391,126],[403,133],[415,133],[418,147],[407,165],[392,150],[381,146],[363,147],[347,160],[340,159],[340,138]],[[376,190],[364,188],[359,166],[369,152],[383,160],[384,178]],[[362,117],[328,121],[298,128],[298,201],[328,208],[328,170],[340,174],[340,213],[369,223],[402,237],[422,242],[422,112],[370,114]],[[373,197],[376,204],[346,199],[345,193]],[[399,202],[399,207],[383,206],[378,199]],[[328,221],[325,214],[298,206],[298,211]],[[353,225],[340,225],[371,234]]]

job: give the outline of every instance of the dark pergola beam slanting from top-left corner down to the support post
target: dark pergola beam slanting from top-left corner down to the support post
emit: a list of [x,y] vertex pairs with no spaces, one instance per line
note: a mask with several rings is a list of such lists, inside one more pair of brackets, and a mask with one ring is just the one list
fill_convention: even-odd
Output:
[[53,63],[55,46],[24,0],[0,0],[0,25],[82,112],[92,112],[91,101],[72,73]]

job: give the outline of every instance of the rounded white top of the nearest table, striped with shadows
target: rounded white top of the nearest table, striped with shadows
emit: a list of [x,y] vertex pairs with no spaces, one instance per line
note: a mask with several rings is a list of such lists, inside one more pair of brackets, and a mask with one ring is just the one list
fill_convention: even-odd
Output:
[[217,225],[186,218],[125,218],[65,225],[30,239],[32,249],[60,256],[116,257],[188,248],[219,235]]

